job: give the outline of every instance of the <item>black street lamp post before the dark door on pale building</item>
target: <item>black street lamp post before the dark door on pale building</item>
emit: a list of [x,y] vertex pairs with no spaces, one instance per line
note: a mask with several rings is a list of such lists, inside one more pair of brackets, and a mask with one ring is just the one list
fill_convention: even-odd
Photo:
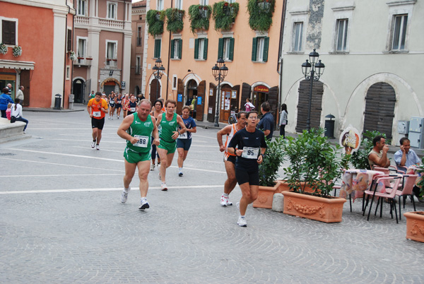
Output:
[[305,75],[305,80],[311,81],[310,101],[309,101],[309,108],[307,112],[307,121],[306,121],[307,131],[310,131],[311,129],[312,85],[314,84],[314,81],[319,81],[319,77],[321,77],[322,73],[324,73],[324,67],[325,67],[324,64],[321,62],[321,60],[318,60],[317,62],[318,57],[319,57],[319,54],[318,52],[315,52],[315,49],[314,49],[314,51],[310,53],[309,61],[306,60],[306,62],[302,64],[302,72],[303,72],[303,75]]

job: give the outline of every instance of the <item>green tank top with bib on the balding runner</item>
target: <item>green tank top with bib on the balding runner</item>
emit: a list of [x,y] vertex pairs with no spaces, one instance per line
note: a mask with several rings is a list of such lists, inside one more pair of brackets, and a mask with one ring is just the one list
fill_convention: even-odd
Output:
[[130,115],[133,115],[134,119],[129,126],[128,134],[139,138],[139,142],[133,145],[130,141],[126,141],[126,147],[139,153],[147,153],[152,148],[151,137],[154,128],[152,118],[148,115],[146,122],[142,122],[136,112]]

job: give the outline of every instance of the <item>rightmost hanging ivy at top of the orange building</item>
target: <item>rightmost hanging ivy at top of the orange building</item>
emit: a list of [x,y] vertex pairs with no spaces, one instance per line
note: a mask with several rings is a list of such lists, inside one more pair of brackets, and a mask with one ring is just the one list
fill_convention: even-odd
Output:
[[247,11],[250,15],[250,28],[252,30],[269,30],[275,6],[275,0],[249,0]]

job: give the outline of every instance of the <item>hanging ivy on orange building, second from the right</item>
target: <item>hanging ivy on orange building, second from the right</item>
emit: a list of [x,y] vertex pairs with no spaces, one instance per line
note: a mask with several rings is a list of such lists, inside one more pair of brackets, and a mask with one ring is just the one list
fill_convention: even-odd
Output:
[[230,30],[232,23],[239,11],[238,3],[228,3],[220,1],[213,4],[213,20],[215,20],[215,30]]

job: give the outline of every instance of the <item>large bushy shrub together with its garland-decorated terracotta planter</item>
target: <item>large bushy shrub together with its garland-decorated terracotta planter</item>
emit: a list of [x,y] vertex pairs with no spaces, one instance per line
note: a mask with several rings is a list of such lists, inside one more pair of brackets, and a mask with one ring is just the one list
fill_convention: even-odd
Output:
[[284,169],[290,191],[283,191],[284,213],[326,223],[341,222],[346,199],[331,196],[334,181],[341,177],[350,155],[339,154],[323,136],[324,129],[303,131],[283,143],[290,166]]

